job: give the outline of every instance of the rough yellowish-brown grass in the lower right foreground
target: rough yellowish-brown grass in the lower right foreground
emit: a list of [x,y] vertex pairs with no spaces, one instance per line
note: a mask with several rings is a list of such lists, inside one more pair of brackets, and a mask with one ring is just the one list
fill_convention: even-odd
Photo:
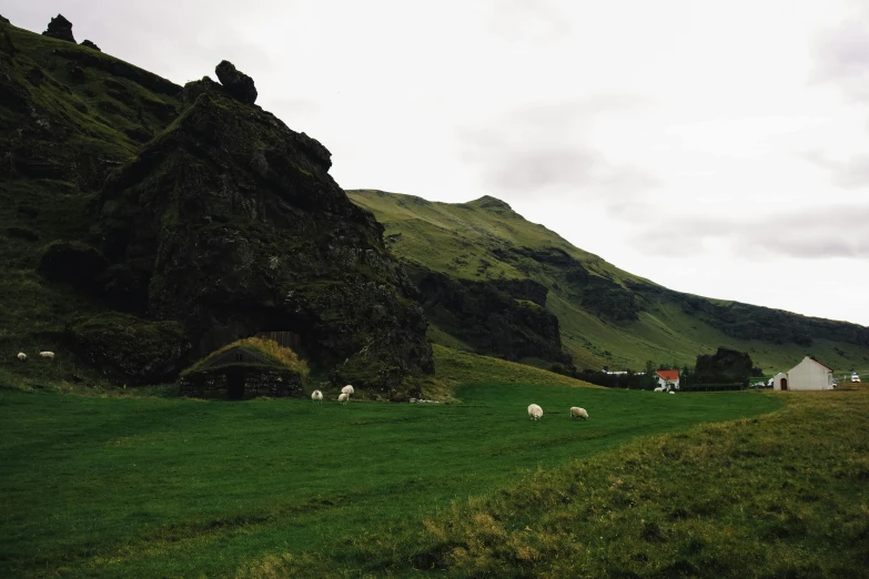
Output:
[[456,504],[412,559],[451,577],[867,577],[869,396],[788,399]]

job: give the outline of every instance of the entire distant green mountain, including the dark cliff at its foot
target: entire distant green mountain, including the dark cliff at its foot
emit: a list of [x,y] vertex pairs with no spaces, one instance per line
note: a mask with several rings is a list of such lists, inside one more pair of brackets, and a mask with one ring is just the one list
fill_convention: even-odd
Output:
[[[497,199],[347,195],[386,227],[388,246],[421,290],[435,343],[534,365],[564,363],[559,354],[567,354],[580,369],[693,366],[719,346],[748,352],[767,372],[807,354],[832,368],[869,367],[867,327],[668,290],[574,247]],[[511,338],[495,343],[487,338],[494,331]]]

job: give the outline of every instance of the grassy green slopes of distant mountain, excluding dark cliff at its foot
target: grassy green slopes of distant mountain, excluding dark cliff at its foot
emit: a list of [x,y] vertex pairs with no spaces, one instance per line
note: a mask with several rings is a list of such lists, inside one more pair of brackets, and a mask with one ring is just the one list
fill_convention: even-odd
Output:
[[[392,251],[412,270],[543,284],[563,347],[579,368],[640,369],[648,359],[694,365],[718,346],[750,353],[769,373],[807,354],[836,369],[869,368],[862,326],[669,291],[574,247],[493,197],[449,204],[372,190],[347,194],[374,212]],[[436,312],[430,317],[435,343],[474,349],[438,325]]]

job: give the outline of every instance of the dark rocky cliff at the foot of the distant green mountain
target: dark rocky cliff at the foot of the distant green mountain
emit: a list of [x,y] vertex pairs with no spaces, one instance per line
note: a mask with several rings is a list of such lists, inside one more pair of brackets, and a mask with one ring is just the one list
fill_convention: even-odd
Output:
[[[426,316],[481,354],[569,364],[558,318],[545,309],[546,287],[532,280],[472,282],[442,273],[413,274]],[[529,299],[535,297],[536,299]]]

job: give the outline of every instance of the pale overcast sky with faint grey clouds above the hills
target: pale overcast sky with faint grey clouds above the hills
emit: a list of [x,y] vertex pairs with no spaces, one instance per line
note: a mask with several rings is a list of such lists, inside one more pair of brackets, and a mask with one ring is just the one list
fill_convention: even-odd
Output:
[[869,326],[869,2],[0,0],[179,84],[223,59],[344,189],[506,201],[671,290]]

